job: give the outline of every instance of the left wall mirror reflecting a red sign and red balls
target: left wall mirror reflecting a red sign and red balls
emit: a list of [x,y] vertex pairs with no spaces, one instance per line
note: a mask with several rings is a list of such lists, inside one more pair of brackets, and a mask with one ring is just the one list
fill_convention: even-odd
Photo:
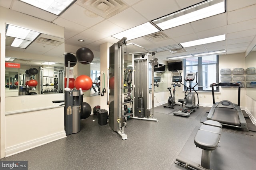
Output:
[[6,63],[6,97],[64,92],[64,39],[6,24]]

